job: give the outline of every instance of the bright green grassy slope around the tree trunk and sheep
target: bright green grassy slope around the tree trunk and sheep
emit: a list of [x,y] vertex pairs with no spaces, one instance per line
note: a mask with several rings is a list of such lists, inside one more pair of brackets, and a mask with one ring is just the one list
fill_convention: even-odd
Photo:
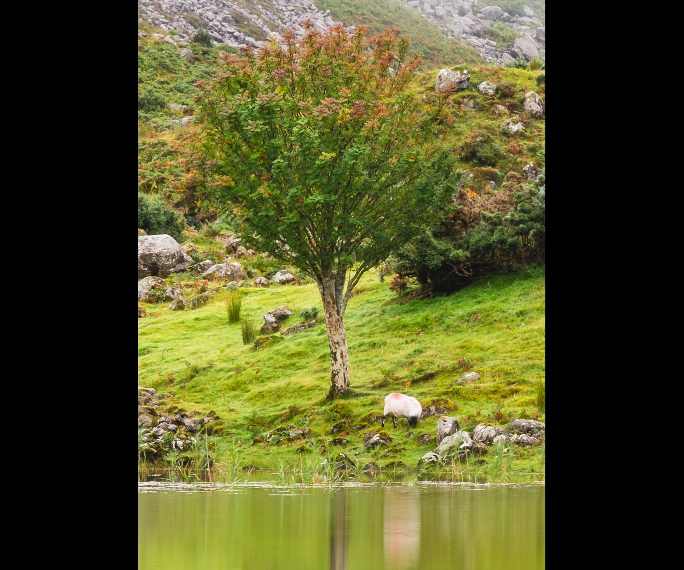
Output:
[[[313,284],[243,290],[242,316],[254,323],[263,323],[261,315],[281,303],[296,310],[321,308]],[[437,418],[423,420],[414,430],[406,420],[400,420],[396,430],[391,422],[386,424],[393,443],[380,451],[361,450],[363,435],[378,431],[379,422],[360,431],[330,433],[344,416],[350,416],[352,426],[382,415],[384,396],[393,391],[412,394],[424,406],[445,398],[449,412],[469,430],[484,422],[503,426],[538,413],[534,384],[545,376],[543,269],[491,277],[450,297],[403,304],[387,282],[367,274],[345,315],[354,395],[332,404],[323,401],[330,385],[324,323],[255,351],[242,344],[241,325],[228,325],[225,295],[218,293],[195,311],[147,306],[148,316],[139,321],[138,381],[171,392],[188,410],[215,410],[228,424],[228,438],[243,442],[243,463],[273,468],[297,462],[295,449],[302,442],[250,446],[257,435],[293,424],[311,429],[316,446],[343,435],[349,444],[334,449],[352,456],[360,451],[356,459],[361,465],[402,461],[415,467],[434,448],[421,444],[417,436],[434,437]],[[477,313],[482,313],[477,323],[469,323]],[[293,315],[286,325],[298,321]],[[186,380],[185,361],[206,370]],[[463,373],[459,362],[472,363],[479,381],[453,385]],[[425,377],[427,372],[436,374]],[[501,416],[495,418],[497,412]],[[545,420],[543,413],[539,419]],[[314,461],[319,456],[308,447],[302,457]],[[539,472],[542,457],[542,448],[523,450],[514,458],[515,468]],[[492,453],[484,459],[495,461]]]

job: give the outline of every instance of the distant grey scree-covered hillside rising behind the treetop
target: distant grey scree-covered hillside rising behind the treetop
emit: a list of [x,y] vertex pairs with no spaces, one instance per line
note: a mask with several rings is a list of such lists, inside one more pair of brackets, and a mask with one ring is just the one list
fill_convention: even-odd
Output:
[[[453,42],[471,46],[487,62],[505,64],[516,57],[530,61],[545,55],[544,4],[530,3],[536,8],[521,0],[139,0],[138,13],[180,40],[205,29],[215,45],[261,46],[284,29],[303,33],[310,18],[321,30],[335,23],[367,25],[371,31],[384,26],[415,29],[422,33],[425,49],[443,52],[445,46],[425,33],[427,27],[433,36],[441,31]],[[421,38],[410,39],[421,46]],[[428,53],[421,55],[430,59]]]

